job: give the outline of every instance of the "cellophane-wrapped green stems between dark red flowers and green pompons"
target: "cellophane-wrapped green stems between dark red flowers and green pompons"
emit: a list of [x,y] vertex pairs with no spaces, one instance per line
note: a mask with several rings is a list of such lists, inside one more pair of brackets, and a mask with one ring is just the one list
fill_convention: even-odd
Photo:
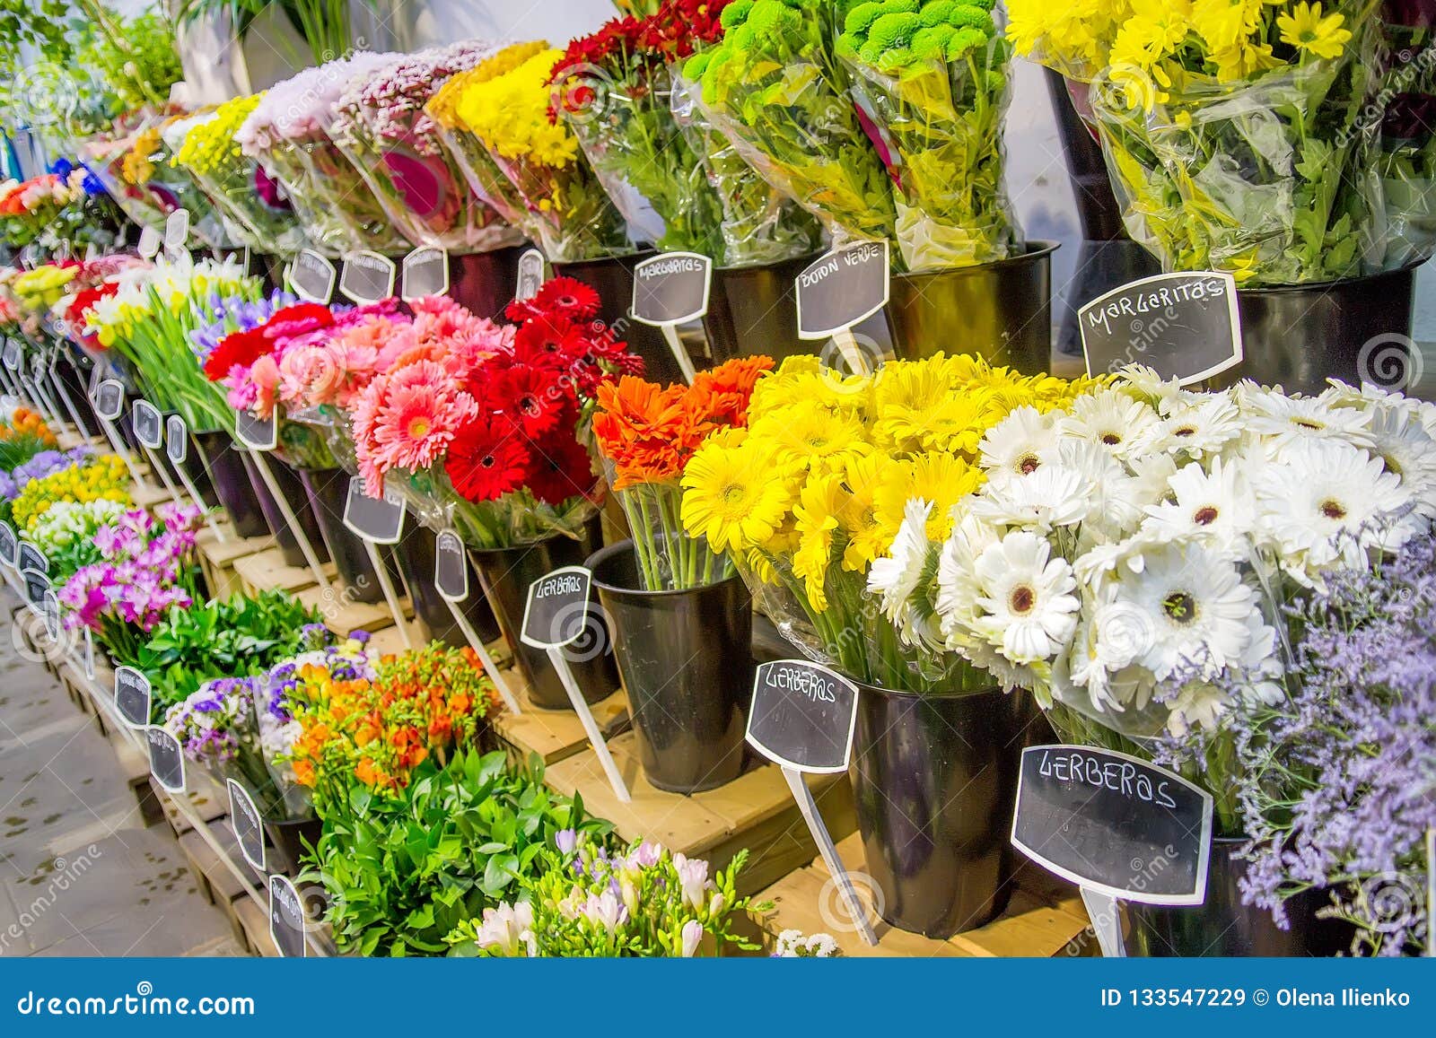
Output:
[[671,103],[688,146],[718,195],[719,266],[757,267],[814,253],[821,241],[817,220],[763,179],[732,141],[714,128],[696,103],[699,89],[675,76]]

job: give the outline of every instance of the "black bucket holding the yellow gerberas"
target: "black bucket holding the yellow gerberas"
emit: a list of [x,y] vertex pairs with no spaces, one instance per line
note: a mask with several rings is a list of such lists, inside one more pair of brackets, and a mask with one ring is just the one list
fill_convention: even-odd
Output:
[[859,688],[849,774],[882,917],[939,940],[989,923],[1012,893],[1031,698]]

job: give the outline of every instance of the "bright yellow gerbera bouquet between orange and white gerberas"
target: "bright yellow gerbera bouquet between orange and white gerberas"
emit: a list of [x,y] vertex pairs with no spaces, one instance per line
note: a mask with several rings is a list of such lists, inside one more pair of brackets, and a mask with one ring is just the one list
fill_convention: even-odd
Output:
[[870,593],[912,498],[929,536],[984,481],[982,435],[1017,408],[1063,408],[1093,382],[1021,376],[971,356],[896,360],[843,376],[817,357],[761,378],[748,428],[722,429],[682,477],[682,521],[727,551],[754,600],[804,649],[843,673],[903,691],[989,688],[955,653],[913,649]]

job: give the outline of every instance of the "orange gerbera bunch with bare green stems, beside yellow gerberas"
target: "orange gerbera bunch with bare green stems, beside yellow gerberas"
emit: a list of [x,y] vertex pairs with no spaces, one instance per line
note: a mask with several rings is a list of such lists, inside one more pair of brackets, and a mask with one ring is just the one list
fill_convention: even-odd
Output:
[[752,386],[771,369],[771,357],[742,357],[699,372],[691,386],[665,389],[632,375],[599,386],[593,436],[633,531],[645,590],[685,590],[732,574],[727,554],[684,530],[679,480],[709,435],[747,425]]

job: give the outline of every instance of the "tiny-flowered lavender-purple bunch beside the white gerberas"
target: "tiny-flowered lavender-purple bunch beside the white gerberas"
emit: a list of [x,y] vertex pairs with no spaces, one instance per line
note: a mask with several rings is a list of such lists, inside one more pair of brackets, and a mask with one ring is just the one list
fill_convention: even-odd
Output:
[[1436,543],[1331,574],[1294,603],[1290,702],[1235,718],[1248,903],[1325,890],[1354,953],[1432,940],[1426,833],[1436,827]]

